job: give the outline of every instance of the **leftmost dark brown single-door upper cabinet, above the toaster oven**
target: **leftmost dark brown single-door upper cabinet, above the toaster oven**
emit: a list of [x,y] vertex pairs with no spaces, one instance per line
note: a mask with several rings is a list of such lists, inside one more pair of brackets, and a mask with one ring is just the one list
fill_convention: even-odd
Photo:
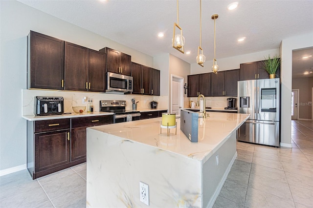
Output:
[[64,41],[30,31],[27,58],[28,87],[64,89]]

